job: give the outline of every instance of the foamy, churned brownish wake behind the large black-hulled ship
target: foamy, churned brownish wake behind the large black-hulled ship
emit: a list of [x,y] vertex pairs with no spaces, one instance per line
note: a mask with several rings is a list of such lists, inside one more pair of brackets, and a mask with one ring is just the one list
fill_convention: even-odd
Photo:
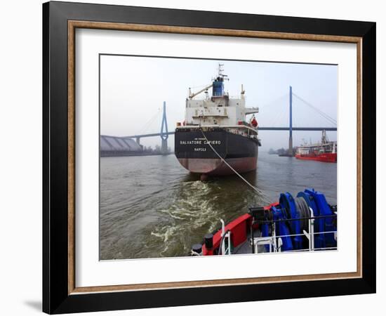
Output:
[[[224,198],[225,188],[220,181],[223,179],[182,183],[168,208],[157,209],[163,218],[168,218],[168,223],[163,222],[151,232],[164,242],[159,256],[185,256],[192,244],[201,242],[206,232],[220,228],[220,218],[236,218],[245,213],[249,205],[263,200],[246,185],[244,192],[229,192],[229,197]],[[233,211],[229,211],[231,208]]]

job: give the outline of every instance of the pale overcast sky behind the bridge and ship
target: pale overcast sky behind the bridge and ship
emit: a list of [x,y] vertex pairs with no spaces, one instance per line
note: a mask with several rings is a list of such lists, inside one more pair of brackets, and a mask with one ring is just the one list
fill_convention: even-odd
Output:
[[[239,96],[246,91],[246,106],[259,107],[259,126],[288,126],[289,86],[293,93],[329,117],[337,119],[338,66],[233,60],[192,60],[135,56],[100,57],[100,133],[128,136],[161,129],[166,101],[168,130],[185,117],[188,88],[198,91],[211,84],[218,63],[224,64],[225,91]],[[293,126],[334,126],[315,110],[293,97]],[[260,131],[262,150],[288,147],[288,131]],[[336,132],[327,132],[336,140]],[[317,142],[320,132],[293,132],[294,145]],[[143,145],[160,144],[160,138],[141,138]],[[169,136],[168,145],[174,147]]]

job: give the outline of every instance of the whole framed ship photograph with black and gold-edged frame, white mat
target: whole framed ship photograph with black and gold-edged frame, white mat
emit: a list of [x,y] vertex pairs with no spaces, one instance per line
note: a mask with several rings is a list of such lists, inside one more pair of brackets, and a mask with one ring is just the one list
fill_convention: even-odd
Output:
[[375,23],[43,18],[44,312],[375,292]]

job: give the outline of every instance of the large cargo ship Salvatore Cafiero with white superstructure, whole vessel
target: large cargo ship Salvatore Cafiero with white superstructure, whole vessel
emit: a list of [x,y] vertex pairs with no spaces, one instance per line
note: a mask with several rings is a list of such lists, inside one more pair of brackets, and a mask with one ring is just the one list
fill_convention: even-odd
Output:
[[[261,143],[254,117],[258,107],[246,107],[242,85],[239,97],[229,97],[224,90],[228,78],[222,66],[218,65],[211,84],[195,93],[189,88],[185,121],[177,123],[175,129],[175,157],[201,178],[253,171],[258,163]],[[197,98],[201,93],[204,97]],[[253,114],[249,123],[248,114]]]

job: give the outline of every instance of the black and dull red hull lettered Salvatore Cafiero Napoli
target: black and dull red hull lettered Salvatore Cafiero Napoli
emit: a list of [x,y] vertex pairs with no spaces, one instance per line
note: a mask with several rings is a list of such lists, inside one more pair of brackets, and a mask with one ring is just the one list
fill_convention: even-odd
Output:
[[[211,143],[215,152],[206,139]],[[218,157],[218,154],[222,159]],[[204,135],[197,129],[177,129],[175,131],[175,156],[178,162],[192,173],[208,176],[233,174],[234,171],[227,164],[238,173],[246,173],[257,167],[258,140],[223,129],[204,131]]]

